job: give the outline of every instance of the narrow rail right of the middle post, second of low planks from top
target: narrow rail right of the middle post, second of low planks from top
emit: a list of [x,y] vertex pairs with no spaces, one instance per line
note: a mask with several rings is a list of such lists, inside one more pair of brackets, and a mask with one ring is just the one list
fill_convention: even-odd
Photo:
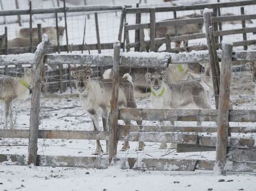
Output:
[[[256,128],[252,127],[229,127],[231,133],[256,133]],[[183,126],[129,126],[120,125],[118,130],[123,132],[217,132],[217,127],[183,127]]]

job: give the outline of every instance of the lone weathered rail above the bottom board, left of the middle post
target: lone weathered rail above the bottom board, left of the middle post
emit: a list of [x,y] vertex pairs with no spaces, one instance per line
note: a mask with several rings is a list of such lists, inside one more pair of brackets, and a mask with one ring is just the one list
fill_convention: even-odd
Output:
[[[0,129],[1,138],[29,138],[29,130]],[[38,130],[38,139],[109,140],[109,132],[82,130]]]

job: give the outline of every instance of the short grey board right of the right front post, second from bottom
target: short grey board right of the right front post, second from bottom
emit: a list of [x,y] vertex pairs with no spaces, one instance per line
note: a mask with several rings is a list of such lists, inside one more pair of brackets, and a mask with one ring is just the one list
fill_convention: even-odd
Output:
[[256,149],[230,148],[227,159],[230,161],[256,162]]

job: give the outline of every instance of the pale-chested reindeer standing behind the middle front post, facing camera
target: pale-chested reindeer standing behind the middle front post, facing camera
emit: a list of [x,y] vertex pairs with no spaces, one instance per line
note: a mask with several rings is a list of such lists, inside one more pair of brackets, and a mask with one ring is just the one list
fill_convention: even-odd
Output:
[[[93,74],[93,70],[90,67],[85,69],[71,68],[71,76],[76,79],[76,88],[79,92],[79,97],[83,110],[87,111],[90,118],[93,121],[94,130],[99,130],[99,117],[103,120],[103,129],[107,131],[109,129],[109,114],[110,114],[110,100],[112,94],[112,79],[90,79]],[[124,75],[120,79],[118,105],[120,107],[136,108],[136,102],[134,98],[133,83],[128,79],[129,75]],[[129,124],[130,121],[124,121]],[[137,122],[141,125],[141,121]],[[108,141],[106,141],[106,154],[108,153]],[[127,151],[129,148],[129,142],[124,141],[121,151]],[[144,142],[139,142],[138,150],[144,149]],[[103,149],[100,145],[100,141],[96,140],[96,151],[93,154],[100,154]]]

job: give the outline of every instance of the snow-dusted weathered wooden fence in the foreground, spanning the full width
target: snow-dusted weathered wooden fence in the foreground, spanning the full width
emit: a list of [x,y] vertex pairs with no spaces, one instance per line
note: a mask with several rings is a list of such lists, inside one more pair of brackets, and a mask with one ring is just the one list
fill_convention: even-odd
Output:
[[[193,63],[195,59],[204,59],[209,62],[208,52],[201,51],[198,55],[191,53],[120,53],[120,43],[114,45],[114,56],[104,55],[66,55],[50,54],[45,55],[47,46],[47,38],[43,38],[41,47],[36,51],[35,57],[33,54],[28,54],[26,61],[22,57],[4,55],[1,56],[0,63],[2,65],[34,63],[34,73],[41,74],[43,63],[45,64],[94,64],[96,66],[109,66],[114,63],[113,78],[118,79],[118,68],[120,65],[129,67],[168,67],[168,64]],[[150,55],[151,54],[151,55]],[[23,55],[24,56],[24,55]],[[217,55],[218,56],[218,55]],[[220,55],[219,55],[220,56]],[[10,59],[12,57],[12,59]],[[183,59],[181,59],[183,57]],[[185,58],[184,58],[185,57]],[[117,100],[118,80],[113,80],[112,89],[112,105],[110,117],[109,132],[88,132],[88,131],[70,131],[70,130],[39,130],[38,129],[38,111],[41,85],[33,86],[33,94],[31,101],[31,118],[30,130],[9,130],[0,129],[0,137],[2,138],[29,138],[29,157],[26,154],[0,154],[0,161],[12,161],[13,164],[26,165],[53,165],[53,166],[79,166],[88,168],[107,168],[113,163],[113,158],[116,157],[117,141],[149,141],[149,142],[174,142],[194,147],[215,147],[217,146],[217,160],[203,159],[168,159],[168,158],[126,158],[122,159],[121,168],[148,168],[149,170],[187,170],[195,169],[213,170],[214,165],[218,166],[220,172],[225,174],[226,170],[230,171],[254,171],[255,169],[255,147],[254,139],[244,139],[227,136],[228,122],[256,122],[256,110],[229,110],[229,85],[230,77],[224,76],[231,72],[231,60],[252,61],[256,58],[256,51],[240,51],[232,52],[232,45],[223,45],[221,53],[221,62],[225,62],[221,67],[220,75],[220,101],[219,110],[173,110],[173,109],[118,109]],[[15,63],[12,62],[15,60]],[[37,75],[37,78],[40,75]],[[33,84],[37,83],[38,79],[33,79]],[[41,84],[41,83],[38,83]],[[227,89],[224,89],[224,86]],[[221,104],[224,102],[225,104]],[[163,126],[118,126],[118,120],[163,120],[163,121],[214,121],[217,122],[218,128],[209,127],[173,127]],[[231,132],[239,133],[255,133],[255,129],[229,128]],[[218,132],[217,138],[214,136],[200,136],[197,134],[187,134],[187,132],[198,131]],[[183,133],[181,133],[183,132]],[[226,133],[223,133],[226,132]],[[37,156],[37,139],[93,139],[93,140],[109,140],[110,152],[108,157],[72,157],[72,156]],[[228,155],[226,151],[229,151]],[[242,153],[246,153],[242,154]],[[227,160],[226,160],[227,158]],[[115,160],[114,160],[115,161]],[[224,169],[225,163],[231,161],[228,169]],[[176,167],[174,167],[176,166]]]

